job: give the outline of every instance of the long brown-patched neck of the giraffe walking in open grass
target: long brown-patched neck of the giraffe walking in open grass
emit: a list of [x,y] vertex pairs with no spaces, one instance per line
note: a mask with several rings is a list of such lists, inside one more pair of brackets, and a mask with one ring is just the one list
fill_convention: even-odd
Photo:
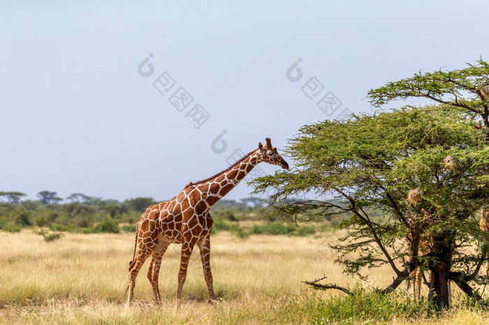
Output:
[[205,200],[207,209],[210,209],[219,199],[237,186],[259,162],[258,152],[254,151],[230,169],[226,169],[214,178],[195,185],[196,189],[201,193],[201,198]]

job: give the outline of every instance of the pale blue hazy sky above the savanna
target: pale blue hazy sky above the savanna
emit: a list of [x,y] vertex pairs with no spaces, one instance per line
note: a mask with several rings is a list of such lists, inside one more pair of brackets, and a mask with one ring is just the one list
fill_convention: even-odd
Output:
[[[488,11],[481,1],[0,1],[0,190],[168,199],[265,137],[280,149],[300,126],[372,112],[369,89],[488,60]],[[180,88],[193,100],[175,108]],[[226,198],[250,190],[240,183]]]

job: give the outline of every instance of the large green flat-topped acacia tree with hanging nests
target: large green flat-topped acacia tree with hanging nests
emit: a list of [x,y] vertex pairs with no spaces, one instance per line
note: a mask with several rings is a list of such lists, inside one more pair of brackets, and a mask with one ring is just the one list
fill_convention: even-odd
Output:
[[[270,211],[279,216],[344,214],[340,227],[348,232],[333,245],[336,262],[361,278],[367,276],[365,268],[389,264],[395,279],[381,292],[396,289],[423,266],[432,273],[425,284],[438,306],[448,305],[448,280],[480,299],[473,285],[488,280],[479,271],[489,237],[476,220],[489,195],[488,75],[489,66],[479,61],[466,70],[415,75],[370,91],[374,105],[409,96],[443,105],[304,126],[286,147],[296,167],[256,179],[255,192],[275,188]],[[478,116],[483,126],[474,121]],[[454,158],[453,168],[444,165],[446,156]],[[412,206],[407,195],[415,189],[423,198]],[[370,211],[379,209],[386,220],[371,217]],[[422,237],[430,239],[430,252],[418,258]]]

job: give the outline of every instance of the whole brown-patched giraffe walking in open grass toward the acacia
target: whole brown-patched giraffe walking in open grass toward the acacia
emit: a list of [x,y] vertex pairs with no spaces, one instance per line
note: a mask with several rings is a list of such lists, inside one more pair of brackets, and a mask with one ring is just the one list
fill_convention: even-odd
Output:
[[258,149],[247,153],[222,172],[196,183],[190,182],[172,199],[147,207],[136,226],[134,254],[133,259],[129,262],[128,306],[133,300],[138,271],[149,256],[151,256],[151,262],[147,278],[152,285],[156,303],[161,303],[158,275],[161,258],[170,243],[182,244],[177,308],[180,305],[182,287],[187,277],[187,266],[194,245],[198,245],[200,250],[200,260],[210,300],[216,299],[210,270],[210,232],[213,221],[209,209],[238,185],[260,162],[268,162],[271,165],[289,169],[289,164],[277,153],[277,148],[272,146],[270,138],[266,138],[265,146],[259,142]]

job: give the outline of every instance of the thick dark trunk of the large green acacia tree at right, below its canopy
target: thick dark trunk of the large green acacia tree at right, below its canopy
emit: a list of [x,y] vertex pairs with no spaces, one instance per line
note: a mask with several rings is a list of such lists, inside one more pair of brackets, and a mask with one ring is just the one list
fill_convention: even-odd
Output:
[[452,234],[434,236],[432,250],[428,254],[432,257],[432,261],[428,263],[430,269],[428,300],[435,303],[439,308],[450,306],[451,293],[448,291],[448,280],[451,268],[452,241]]

